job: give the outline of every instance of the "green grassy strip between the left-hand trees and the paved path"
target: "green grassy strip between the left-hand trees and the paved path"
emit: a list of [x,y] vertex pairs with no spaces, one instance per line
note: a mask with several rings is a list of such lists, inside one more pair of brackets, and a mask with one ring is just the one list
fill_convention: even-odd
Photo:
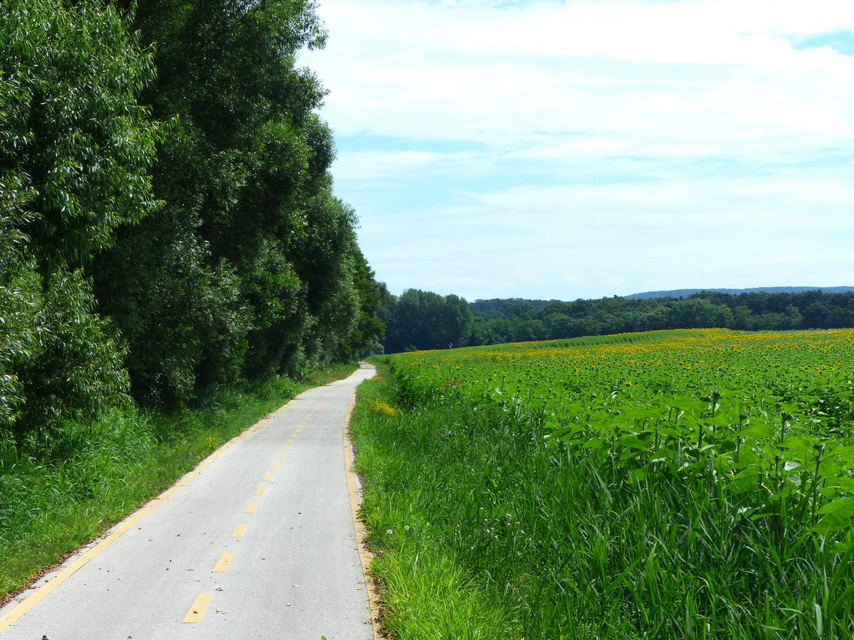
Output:
[[67,424],[19,446],[0,442],[0,599],[296,394],[356,366],[219,389],[178,412],[114,410],[102,422]]

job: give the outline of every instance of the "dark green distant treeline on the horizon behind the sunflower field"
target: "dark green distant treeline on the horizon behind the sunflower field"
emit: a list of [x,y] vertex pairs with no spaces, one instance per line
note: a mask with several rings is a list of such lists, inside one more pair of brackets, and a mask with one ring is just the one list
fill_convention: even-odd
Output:
[[[447,343],[492,345],[653,329],[721,327],[759,331],[854,327],[851,292],[738,295],[702,292],[687,298],[629,300],[614,296],[575,302],[495,299],[467,305],[457,296],[442,298],[410,289],[398,298],[384,294],[383,300],[380,314],[389,327],[383,340],[387,352],[412,347],[447,348]],[[429,317],[412,311],[418,308],[420,300],[431,300]],[[453,317],[453,322],[434,319],[444,317]]]

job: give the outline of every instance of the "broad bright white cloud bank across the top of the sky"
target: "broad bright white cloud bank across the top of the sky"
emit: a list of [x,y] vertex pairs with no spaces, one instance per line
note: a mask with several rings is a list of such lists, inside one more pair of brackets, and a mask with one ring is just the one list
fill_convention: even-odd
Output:
[[344,135],[501,144],[570,129],[721,141],[759,127],[850,138],[841,116],[854,59],[786,39],[850,24],[849,4],[339,0],[321,7],[329,49],[305,60],[330,86],[325,113]]

